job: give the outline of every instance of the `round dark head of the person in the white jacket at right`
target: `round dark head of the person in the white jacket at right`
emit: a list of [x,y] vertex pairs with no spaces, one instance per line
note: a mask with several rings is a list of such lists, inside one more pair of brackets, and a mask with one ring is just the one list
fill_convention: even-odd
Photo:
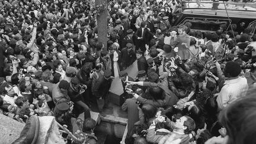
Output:
[[225,72],[229,73],[232,77],[236,77],[241,73],[242,69],[238,62],[227,62]]

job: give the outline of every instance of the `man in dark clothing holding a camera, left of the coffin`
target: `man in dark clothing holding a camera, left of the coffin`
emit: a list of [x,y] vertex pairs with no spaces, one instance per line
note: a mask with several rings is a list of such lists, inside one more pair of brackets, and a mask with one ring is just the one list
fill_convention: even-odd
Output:
[[70,87],[68,89],[68,95],[71,98],[71,101],[73,101],[74,103],[73,113],[76,115],[76,117],[78,117],[79,114],[84,113],[84,120],[91,118],[90,109],[88,105],[85,104],[85,101],[82,97],[85,89],[87,89],[87,85],[81,85],[78,78],[73,77],[71,79]]

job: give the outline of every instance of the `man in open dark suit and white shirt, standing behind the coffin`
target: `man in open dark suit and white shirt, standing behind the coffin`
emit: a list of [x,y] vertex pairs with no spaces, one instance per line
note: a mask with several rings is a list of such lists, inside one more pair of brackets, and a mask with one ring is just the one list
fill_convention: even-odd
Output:
[[155,36],[153,35],[153,33],[151,33],[151,31],[148,30],[146,21],[142,21],[142,23],[140,24],[140,28],[138,28],[135,33],[135,39],[137,41],[135,50],[138,50],[140,48],[140,50],[145,52],[145,44],[149,45],[149,42],[152,38],[155,38]]

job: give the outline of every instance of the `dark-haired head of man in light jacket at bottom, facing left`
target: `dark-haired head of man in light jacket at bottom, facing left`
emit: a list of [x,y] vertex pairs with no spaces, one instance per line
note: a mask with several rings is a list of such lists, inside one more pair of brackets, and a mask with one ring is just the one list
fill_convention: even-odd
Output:
[[185,134],[191,133],[196,128],[195,121],[189,116],[183,116],[176,120],[174,126]]

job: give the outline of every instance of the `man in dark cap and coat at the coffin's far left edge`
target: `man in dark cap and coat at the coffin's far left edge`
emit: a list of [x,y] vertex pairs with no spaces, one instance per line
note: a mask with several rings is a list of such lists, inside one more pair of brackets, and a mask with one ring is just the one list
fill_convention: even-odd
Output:
[[126,47],[121,50],[121,65],[120,69],[124,70],[128,66],[132,65],[133,62],[136,60],[136,54],[133,51],[133,45],[132,43],[127,43]]

